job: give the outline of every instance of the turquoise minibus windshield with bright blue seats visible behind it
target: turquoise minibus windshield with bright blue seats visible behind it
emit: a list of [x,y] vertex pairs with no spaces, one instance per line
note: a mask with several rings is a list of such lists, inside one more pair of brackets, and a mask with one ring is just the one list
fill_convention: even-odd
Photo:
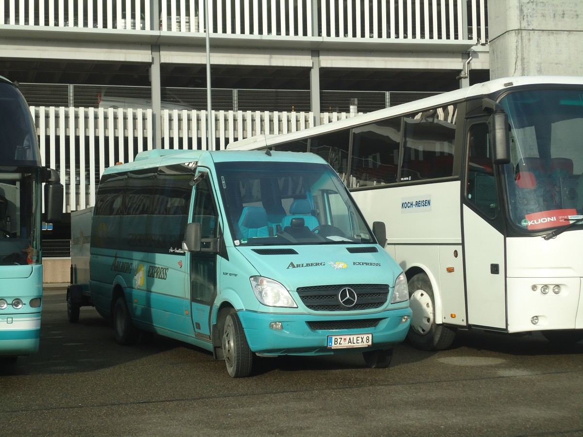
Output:
[[235,245],[374,242],[329,165],[248,161],[216,168]]

